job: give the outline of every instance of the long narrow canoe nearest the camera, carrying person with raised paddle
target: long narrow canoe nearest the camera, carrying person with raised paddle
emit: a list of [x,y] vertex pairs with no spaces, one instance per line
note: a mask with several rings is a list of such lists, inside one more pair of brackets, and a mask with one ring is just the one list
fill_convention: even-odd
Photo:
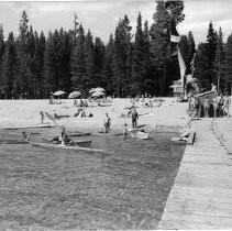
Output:
[[88,147],[81,147],[81,146],[69,146],[69,145],[58,145],[58,144],[49,144],[49,143],[36,143],[36,142],[30,142],[32,146],[36,147],[43,147],[43,148],[58,148],[58,150],[69,150],[69,151],[85,151],[85,152],[93,152],[93,153],[100,153],[100,154],[107,154],[103,150],[96,150],[96,148],[88,148]]

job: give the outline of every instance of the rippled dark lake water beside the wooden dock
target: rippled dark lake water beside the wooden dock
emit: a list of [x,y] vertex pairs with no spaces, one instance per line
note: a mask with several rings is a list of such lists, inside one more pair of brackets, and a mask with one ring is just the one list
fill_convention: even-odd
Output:
[[92,136],[104,156],[1,145],[0,230],[156,229],[185,148],[175,135]]

